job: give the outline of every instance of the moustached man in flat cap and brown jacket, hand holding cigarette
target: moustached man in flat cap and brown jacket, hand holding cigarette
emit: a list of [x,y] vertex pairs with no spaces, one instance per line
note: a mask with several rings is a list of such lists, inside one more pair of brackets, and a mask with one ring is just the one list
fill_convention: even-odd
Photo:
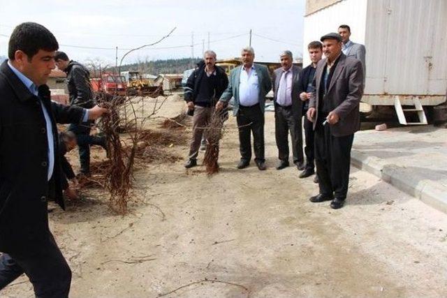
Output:
[[351,147],[360,128],[363,69],[358,59],[342,53],[342,36],[321,37],[325,59],[318,62],[307,117],[314,122],[319,194],[311,202],[332,200],[342,208],[348,193]]

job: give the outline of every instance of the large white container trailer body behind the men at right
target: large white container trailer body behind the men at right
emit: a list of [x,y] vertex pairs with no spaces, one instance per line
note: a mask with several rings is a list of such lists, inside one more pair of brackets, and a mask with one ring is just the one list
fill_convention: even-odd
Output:
[[370,105],[439,105],[447,91],[447,0],[307,0],[307,44],[340,24],[366,47],[362,101]]

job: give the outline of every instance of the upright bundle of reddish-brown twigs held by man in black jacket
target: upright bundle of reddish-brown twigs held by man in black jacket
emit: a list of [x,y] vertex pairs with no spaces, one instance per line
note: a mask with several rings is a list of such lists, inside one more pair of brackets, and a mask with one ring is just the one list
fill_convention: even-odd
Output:
[[207,145],[203,163],[209,175],[219,172],[219,142],[223,136],[223,122],[226,119],[228,119],[228,110],[215,111],[210,124],[205,128]]

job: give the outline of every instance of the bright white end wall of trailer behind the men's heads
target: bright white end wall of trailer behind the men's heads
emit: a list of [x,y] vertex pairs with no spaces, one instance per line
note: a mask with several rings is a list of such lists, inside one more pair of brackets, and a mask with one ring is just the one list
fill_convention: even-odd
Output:
[[303,36],[302,65],[307,66],[310,63],[307,45],[312,40],[320,40],[325,33],[337,32],[341,24],[348,24],[351,27],[351,40],[365,43],[366,13],[367,0],[344,0],[307,15]]

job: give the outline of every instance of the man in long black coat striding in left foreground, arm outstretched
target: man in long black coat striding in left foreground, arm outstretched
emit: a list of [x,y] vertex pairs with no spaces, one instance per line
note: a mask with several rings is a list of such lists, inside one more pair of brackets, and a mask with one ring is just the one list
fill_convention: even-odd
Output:
[[107,111],[50,100],[45,83],[58,47],[45,27],[22,23],[0,66],[0,289],[24,273],[36,297],[68,297],[71,283],[48,228],[48,199],[64,209],[56,123],[79,123]]

